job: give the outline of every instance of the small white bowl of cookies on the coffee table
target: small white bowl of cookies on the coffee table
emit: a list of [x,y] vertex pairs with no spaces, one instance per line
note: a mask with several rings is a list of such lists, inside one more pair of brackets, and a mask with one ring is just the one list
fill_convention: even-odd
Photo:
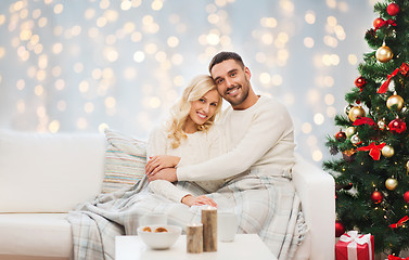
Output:
[[138,227],[138,235],[152,249],[167,249],[178,239],[182,229],[177,225],[142,225]]

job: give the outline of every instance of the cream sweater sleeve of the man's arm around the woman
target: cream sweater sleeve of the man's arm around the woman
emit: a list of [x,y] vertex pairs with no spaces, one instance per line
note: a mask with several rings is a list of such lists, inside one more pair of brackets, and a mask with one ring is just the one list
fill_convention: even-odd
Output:
[[[197,165],[177,168],[179,181],[210,181],[247,170],[287,131],[293,122],[284,105],[259,107],[244,138],[230,152]],[[226,133],[229,134],[229,133]]]

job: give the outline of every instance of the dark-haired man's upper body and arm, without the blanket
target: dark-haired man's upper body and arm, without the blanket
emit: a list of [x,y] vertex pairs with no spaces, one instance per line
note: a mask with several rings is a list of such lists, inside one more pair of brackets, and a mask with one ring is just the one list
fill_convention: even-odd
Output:
[[199,165],[156,168],[148,173],[149,180],[231,179],[258,168],[289,174],[295,161],[295,144],[286,108],[273,99],[255,94],[250,83],[252,74],[237,53],[218,53],[210,62],[209,73],[219,94],[231,104],[221,121],[230,152]]

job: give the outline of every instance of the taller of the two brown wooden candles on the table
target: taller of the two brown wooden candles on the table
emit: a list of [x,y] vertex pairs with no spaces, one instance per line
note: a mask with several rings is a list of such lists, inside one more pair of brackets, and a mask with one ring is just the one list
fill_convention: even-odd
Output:
[[217,209],[207,207],[202,209],[203,250],[217,251]]

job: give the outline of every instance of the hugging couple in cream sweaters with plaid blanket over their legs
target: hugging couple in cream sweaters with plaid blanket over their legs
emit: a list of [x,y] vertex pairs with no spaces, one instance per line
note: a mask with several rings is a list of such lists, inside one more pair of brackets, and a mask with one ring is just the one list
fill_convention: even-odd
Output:
[[[152,131],[145,178],[71,214],[76,259],[113,259],[113,237],[135,234],[143,214],[165,212],[184,227],[200,220],[203,205],[234,211],[239,233],[258,234],[278,259],[293,258],[306,226],[291,177],[292,119],[281,103],[255,94],[239,54],[218,53],[209,73],[191,81],[167,123]],[[223,113],[222,99],[230,103]]]

